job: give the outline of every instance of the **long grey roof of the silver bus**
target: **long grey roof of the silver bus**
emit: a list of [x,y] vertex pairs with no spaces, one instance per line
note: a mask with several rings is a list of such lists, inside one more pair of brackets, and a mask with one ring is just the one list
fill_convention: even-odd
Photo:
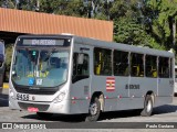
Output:
[[122,44],[122,43],[106,42],[106,41],[101,41],[101,40],[95,40],[95,38],[76,36],[73,34],[21,35],[19,37],[46,37],[46,36],[49,37],[73,37],[74,42],[79,44],[86,44],[86,45],[92,45],[96,47],[119,50],[119,51],[125,51],[125,52],[134,52],[134,53],[139,53],[139,54],[148,54],[148,55],[156,55],[156,56],[164,56],[164,57],[175,57],[174,53],[170,53],[167,51],[158,51],[158,50],[148,48],[148,47],[139,47],[139,46],[127,45],[127,44]]

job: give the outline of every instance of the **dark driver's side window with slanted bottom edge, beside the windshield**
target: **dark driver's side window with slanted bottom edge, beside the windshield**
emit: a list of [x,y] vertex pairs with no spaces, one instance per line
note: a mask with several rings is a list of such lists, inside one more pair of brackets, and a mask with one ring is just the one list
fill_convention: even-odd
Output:
[[83,61],[82,63],[79,63],[80,55],[81,54],[79,53],[74,53],[74,56],[73,56],[73,77],[72,77],[73,82],[84,78],[88,78],[88,74],[90,74],[88,55],[82,54]]

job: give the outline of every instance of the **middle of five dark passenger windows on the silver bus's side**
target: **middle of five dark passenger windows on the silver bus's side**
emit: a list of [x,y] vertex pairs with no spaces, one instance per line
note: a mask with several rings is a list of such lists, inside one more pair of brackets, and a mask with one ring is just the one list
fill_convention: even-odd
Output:
[[131,54],[131,76],[144,76],[144,55],[135,53]]

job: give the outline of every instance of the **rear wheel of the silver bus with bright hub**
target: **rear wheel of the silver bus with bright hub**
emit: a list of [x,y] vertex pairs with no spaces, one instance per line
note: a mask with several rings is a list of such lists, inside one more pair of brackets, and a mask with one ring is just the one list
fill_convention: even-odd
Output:
[[147,95],[144,101],[144,109],[140,112],[140,116],[143,117],[149,117],[153,112],[153,98],[150,95]]

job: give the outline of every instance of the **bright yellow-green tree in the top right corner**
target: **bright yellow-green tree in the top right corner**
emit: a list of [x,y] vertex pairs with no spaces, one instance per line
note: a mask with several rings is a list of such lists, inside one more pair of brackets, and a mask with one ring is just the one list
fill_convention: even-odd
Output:
[[[148,0],[144,15],[152,20],[149,34],[167,50],[175,46],[177,0]],[[147,11],[150,14],[147,15]]]

